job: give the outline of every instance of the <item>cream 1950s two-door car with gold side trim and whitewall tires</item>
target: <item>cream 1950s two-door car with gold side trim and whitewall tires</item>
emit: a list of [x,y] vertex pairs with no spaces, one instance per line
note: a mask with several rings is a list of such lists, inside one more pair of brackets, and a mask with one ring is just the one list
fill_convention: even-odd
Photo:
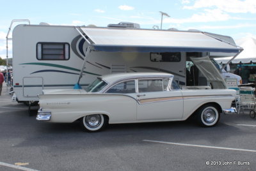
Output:
[[[168,73],[118,73],[97,78],[86,90],[48,90],[40,95],[36,119],[72,123],[87,131],[106,124],[184,121],[195,115],[199,124],[214,126],[229,110],[236,91],[180,89]],[[234,112],[234,111],[233,111]]]

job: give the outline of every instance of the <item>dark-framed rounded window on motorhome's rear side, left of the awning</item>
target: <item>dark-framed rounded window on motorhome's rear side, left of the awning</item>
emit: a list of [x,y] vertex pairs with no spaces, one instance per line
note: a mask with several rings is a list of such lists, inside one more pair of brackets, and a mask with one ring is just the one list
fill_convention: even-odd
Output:
[[70,57],[68,43],[40,42],[36,45],[38,60],[68,60]]

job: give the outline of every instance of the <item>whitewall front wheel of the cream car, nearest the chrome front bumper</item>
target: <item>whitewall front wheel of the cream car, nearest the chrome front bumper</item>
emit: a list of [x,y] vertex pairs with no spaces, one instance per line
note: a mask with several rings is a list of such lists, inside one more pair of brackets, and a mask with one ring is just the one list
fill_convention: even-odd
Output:
[[205,105],[197,112],[197,121],[201,126],[215,126],[220,120],[220,113],[215,105]]

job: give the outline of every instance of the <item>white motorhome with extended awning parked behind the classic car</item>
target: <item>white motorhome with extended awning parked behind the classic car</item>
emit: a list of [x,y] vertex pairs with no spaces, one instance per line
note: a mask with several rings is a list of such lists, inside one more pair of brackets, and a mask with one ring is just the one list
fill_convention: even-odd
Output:
[[[209,59],[209,52],[241,52],[236,45],[200,31],[138,27],[20,24],[13,29],[12,40],[13,99],[17,101],[38,101],[43,89],[70,89],[76,83],[86,87],[101,75],[118,72],[172,73],[184,86],[192,79],[187,67],[193,57]],[[189,85],[214,81],[200,65],[204,68],[203,63],[196,65],[196,82]]]

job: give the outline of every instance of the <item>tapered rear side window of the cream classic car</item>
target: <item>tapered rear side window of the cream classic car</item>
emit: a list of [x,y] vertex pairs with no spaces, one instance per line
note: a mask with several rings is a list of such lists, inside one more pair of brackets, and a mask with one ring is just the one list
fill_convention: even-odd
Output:
[[135,93],[135,80],[129,80],[126,82],[120,82],[113,85],[106,93]]

